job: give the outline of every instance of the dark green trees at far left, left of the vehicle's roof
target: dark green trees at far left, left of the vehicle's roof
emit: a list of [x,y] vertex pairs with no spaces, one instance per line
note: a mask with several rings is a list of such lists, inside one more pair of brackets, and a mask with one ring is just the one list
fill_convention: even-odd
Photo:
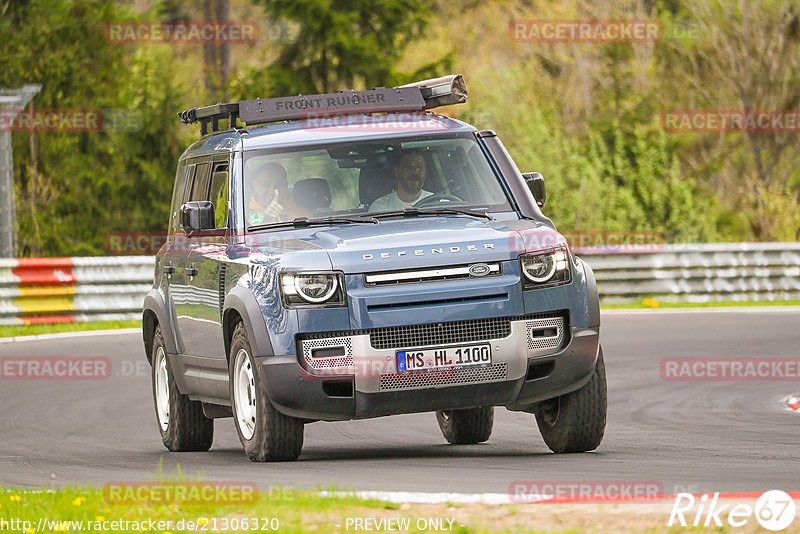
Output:
[[104,117],[99,131],[12,134],[19,255],[102,254],[109,231],[163,229],[184,144],[169,51],[109,42],[107,23],[135,18],[112,2],[0,8],[0,86],[41,83],[35,108],[98,110]]

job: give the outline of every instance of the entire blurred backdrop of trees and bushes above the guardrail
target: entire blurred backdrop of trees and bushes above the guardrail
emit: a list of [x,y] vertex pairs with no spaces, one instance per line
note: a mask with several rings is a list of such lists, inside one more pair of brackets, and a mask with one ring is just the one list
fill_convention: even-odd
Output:
[[[101,254],[109,231],[162,230],[175,163],[198,133],[176,111],[449,71],[465,75],[471,95],[446,111],[497,130],[522,170],[544,174],[546,212],[563,230],[800,239],[797,132],[674,133],[660,120],[676,109],[798,109],[796,3],[229,0],[222,12],[262,31],[255,44],[231,45],[222,67],[204,65],[217,56],[202,45],[119,44],[104,33],[119,20],[202,20],[227,1],[134,10],[0,0],[0,88],[41,83],[38,109],[114,110],[129,121],[12,134],[20,255]],[[657,19],[663,35],[517,42],[517,19]]]

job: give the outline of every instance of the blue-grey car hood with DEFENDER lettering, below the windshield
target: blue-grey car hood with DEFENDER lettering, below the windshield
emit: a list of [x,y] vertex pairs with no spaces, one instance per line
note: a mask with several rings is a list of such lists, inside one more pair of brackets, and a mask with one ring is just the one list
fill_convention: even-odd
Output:
[[296,251],[313,266],[294,265],[299,257],[290,259],[292,254],[281,263],[319,269],[318,255],[324,253],[335,270],[365,273],[514,259],[526,249],[544,248],[539,245],[553,241],[554,235],[552,228],[535,221],[447,216],[251,234],[248,244],[251,261],[254,255],[274,261],[276,254]]

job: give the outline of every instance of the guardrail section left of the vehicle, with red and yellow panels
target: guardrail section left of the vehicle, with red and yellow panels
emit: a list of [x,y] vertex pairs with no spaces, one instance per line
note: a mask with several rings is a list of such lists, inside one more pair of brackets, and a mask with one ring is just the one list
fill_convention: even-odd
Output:
[[0,324],[139,319],[153,256],[0,259]]

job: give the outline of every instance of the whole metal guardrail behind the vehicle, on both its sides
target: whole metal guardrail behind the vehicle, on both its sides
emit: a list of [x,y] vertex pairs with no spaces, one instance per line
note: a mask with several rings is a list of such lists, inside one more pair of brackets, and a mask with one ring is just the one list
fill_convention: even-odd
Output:
[[[604,304],[800,299],[800,243],[624,250],[579,254],[594,269]],[[153,256],[0,259],[0,324],[138,319],[153,267]]]

